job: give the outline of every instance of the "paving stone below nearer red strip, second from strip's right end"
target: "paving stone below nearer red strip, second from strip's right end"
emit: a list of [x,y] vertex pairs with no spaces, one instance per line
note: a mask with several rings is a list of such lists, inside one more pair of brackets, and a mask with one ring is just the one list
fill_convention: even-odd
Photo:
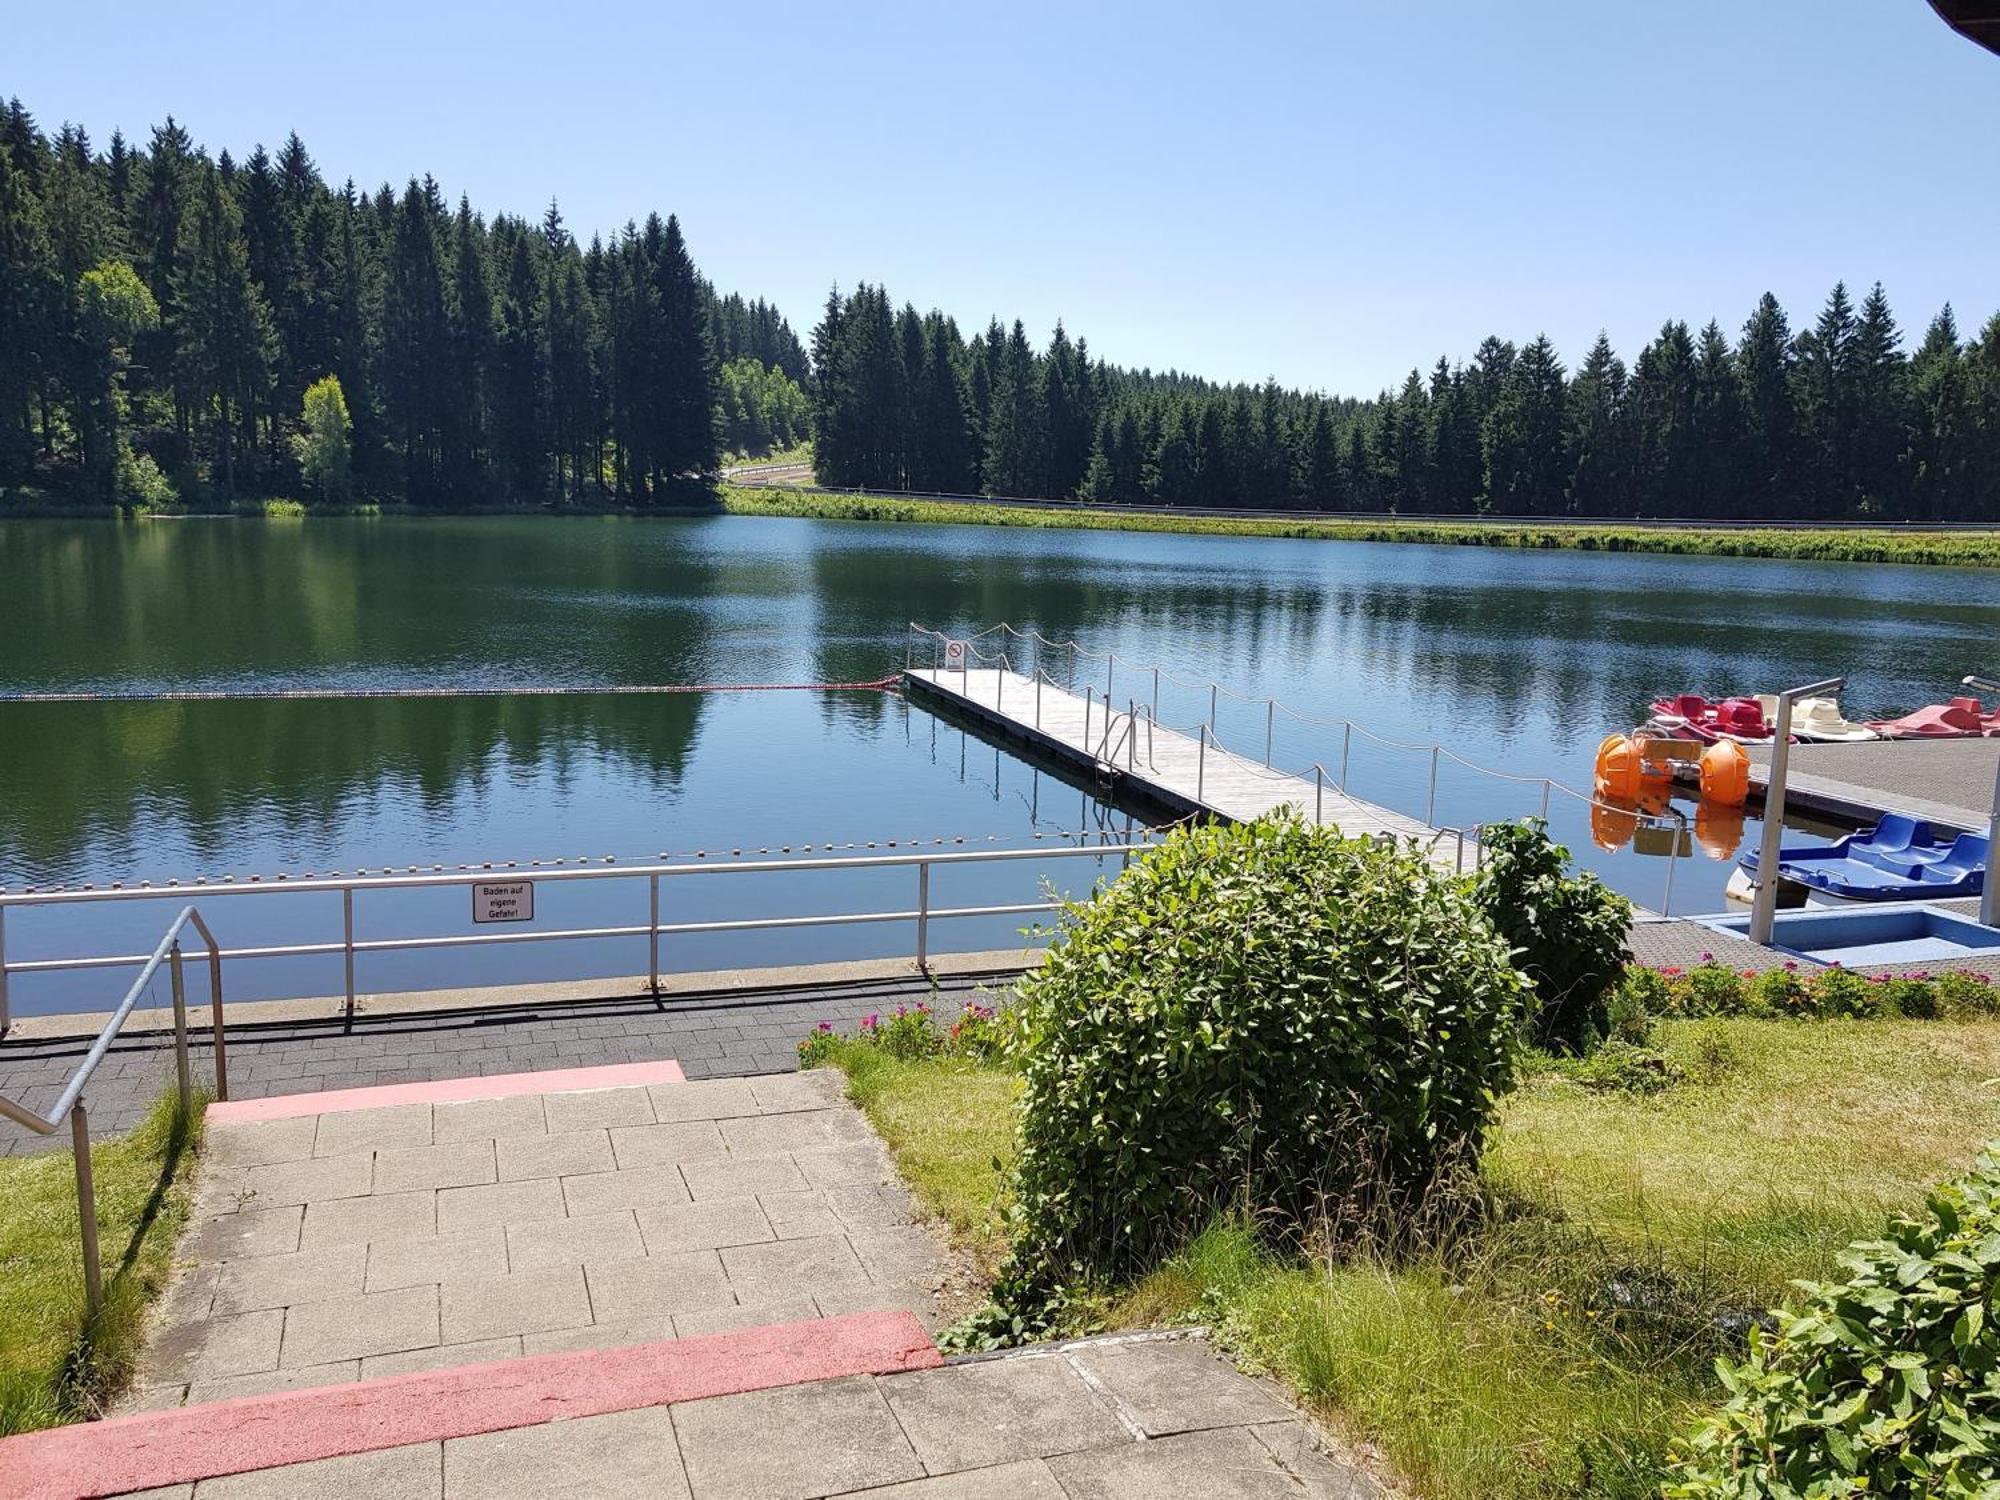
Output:
[[924,1472],[868,1376],[670,1410],[694,1500],[808,1500]]

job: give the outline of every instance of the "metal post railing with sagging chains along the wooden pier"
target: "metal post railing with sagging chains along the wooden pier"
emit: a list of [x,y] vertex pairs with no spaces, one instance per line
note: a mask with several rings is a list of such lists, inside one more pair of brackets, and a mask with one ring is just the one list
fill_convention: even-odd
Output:
[[[1442,762],[1446,762],[1446,760],[1450,760],[1452,764],[1462,766],[1464,770],[1470,770],[1470,772],[1474,772],[1478,776],[1488,776],[1488,778],[1502,780],[1502,782],[1512,782],[1512,784],[1518,784],[1518,786],[1540,786],[1542,800],[1540,800],[1540,814],[1538,816],[1544,822],[1548,820],[1550,802],[1560,794],[1560,796],[1572,798],[1574,802],[1582,802],[1586,808],[1600,808],[1604,812],[1618,814],[1620,818],[1632,818],[1634,826],[1666,828],[1666,830],[1670,830],[1672,838],[1668,840],[1668,852],[1666,852],[1666,882],[1664,882],[1664,894],[1662,894],[1662,900],[1660,900],[1660,916],[1670,916],[1672,914],[1672,908],[1674,908],[1674,868],[1676,868],[1676,864],[1680,860],[1682,844],[1686,842],[1686,832],[1688,832],[1688,818],[1678,808],[1662,808],[1660,812],[1650,812],[1646,808],[1634,808],[1634,806],[1622,806],[1618,802],[1606,802],[1604,798],[1594,796],[1592,792],[1582,792],[1582,790],[1578,790],[1574,786],[1568,786],[1566,782],[1558,782],[1552,776],[1522,776],[1520,772],[1494,770],[1492,766],[1482,766],[1476,760],[1466,760],[1462,754],[1458,754],[1456,750],[1452,750],[1452,748],[1448,748],[1444,744],[1412,744],[1412,742],[1406,742],[1406,740],[1390,740],[1388,736],[1376,734],[1374,730],[1366,728],[1364,724],[1356,724],[1350,718],[1324,718],[1324,716],[1318,716],[1318,714],[1306,714],[1306,712],[1302,712],[1298,708],[1292,708],[1290,704],[1286,704],[1286,702],[1282,702],[1280,698],[1274,698],[1274,696],[1258,696],[1258,694],[1236,692],[1234,688],[1226,688],[1226,686],[1222,686],[1216,680],[1206,680],[1204,682],[1204,680],[1184,678],[1178,672],[1164,670],[1156,662],[1134,662],[1130,658],[1120,656],[1118,652],[1112,652],[1112,650],[1094,650],[1094,648],[1088,648],[1088,646],[1084,646],[1084,644],[1080,644],[1076,640],[1050,640],[1040,630],[1034,630],[1034,628],[1018,630],[1018,628],[1014,628],[1012,624],[1008,624],[1004,620],[1000,624],[986,626],[984,630],[978,630],[978,632],[974,632],[970,636],[962,636],[962,638],[946,636],[940,630],[932,630],[930,626],[924,626],[924,624],[918,624],[916,620],[912,620],[910,626],[908,626],[908,644],[906,644],[906,650],[904,650],[904,666],[906,668],[916,666],[918,642],[924,640],[924,638],[928,638],[932,642],[930,650],[932,650],[932,668],[934,670],[936,668],[946,668],[946,666],[960,666],[960,668],[962,666],[970,666],[972,660],[998,664],[998,668],[1000,668],[1000,680],[994,686],[994,706],[998,708],[1000,700],[1004,696],[1004,688],[1006,688],[1006,674],[1012,672],[1014,666],[1012,666],[1012,660],[1010,660],[1008,652],[1002,650],[998,654],[992,654],[992,652],[980,650],[980,646],[978,646],[978,642],[982,642],[982,640],[986,640],[990,636],[996,636],[996,634],[1004,636],[1008,640],[1020,640],[1024,644],[1032,642],[1036,646],[1036,662],[1034,662],[1034,686],[1036,686],[1034,724],[1036,724],[1036,728],[1042,726],[1042,682],[1046,680],[1050,686],[1058,686],[1056,684],[1056,676],[1052,672],[1044,670],[1044,664],[1040,660],[1044,652],[1056,652],[1058,660],[1064,660],[1064,656],[1066,656],[1066,660],[1068,660],[1068,672],[1064,674],[1064,684],[1062,684],[1066,690],[1074,690],[1076,676],[1078,676],[1078,672],[1082,668],[1084,658],[1102,660],[1104,662],[1102,700],[1104,700],[1104,714],[1106,714],[1106,728],[1104,728],[1106,742],[1110,738],[1112,690],[1116,686],[1118,668],[1120,666],[1124,666],[1128,672],[1136,670],[1142,676],[1150,676],[1152,698],[1146,704],[1146,716],[1148,716],[1148,720],[1154,718],[1154,710],[1156,710],[1156,706],[1160,702],[1160,684],[1162,682],[1168,682],[1168,684],[1174,684],[1174,686],[1180,686],[1180,688],[1188,688],[1188,690],[1194,690],[1194,692],[1206,692],[1208,694],[1208,714],[1206,714],[1206,718],[1202,718],[1198,724],[1190,724],[1190,726],[1186,726],[1186,730],[1182,730],[1182,732],[1188,732],[1188,734],[1196,734],[1200,738],[1200,750],[1198,750],[1200,764],[1196,768],[1196,802],[1200,802],[1202,794],[1206,792],[1206,758],[1208,758],[1208,750],[1212,746],[1216,752],[1230,756],[1238,766],[1244,766],[1248,770],[1266,770],[1266,772],[1280,774],[1280,776],[1286,776],[1286,778],[1312,780],[1312,784],[1314,784],[1314,804],[1316,804],[1314,806],[1314,822],[1324,822],[1322,814],[1324,814],[1326,784],[1332,782],[1334,788],[1336,788],[1336,792],[1340,796],[1348,796],[1348,768],[1350,768],[1350,762],[1352,762],[1354,738],[1360,736],[1362,740],[1378,744],[1378,746],[1382,746],[1386,750],[1400,750],[1400,752],[1422,754],[1422,756],[1430,758],[1428,790],[1426,790],[1426,796],[1424,796],[1424,826],[1432,828],[1432,830],[1438,828],[1438,772],[1440,772]],[[948,660],[948,650],[950,650],[950,646],[954,642],[956,642],[956,646],[962,652],[962,658],[956,664],[952,664]],[[1082,698],[1084,698],[1084,706],[1086,706],[1084,744],[1088,746],[1090,744],[1090,710],[1092,710],[1092,706],[1098,700],[1098,690],[1094,686],[1086,686],[1082,690]],[[1232,700],[1236,700],[1240,704],[1262,706],[1264,708],[1264,750],[1262,750],[1262,762],[1254,762],[1248,756],[1240,756],[1238,752],[1230,750],[1222,742],[1222,738],[1218,736],[1218,732],[1216,732],[1216,716],[1218,716],[1220,700],[1222,698],[1232,698]],[[1140,708],[1140,704],[1134,700],[1132,712],[1138,712],[1138,708]],[[1326,768],[1326,764],[1322,764],[1320,760],[1314,760],[1310,766],[1304,766],[1298,772],[1276,772],[1274,766],[1272,766],[1272,760],[1274,760],[1278,714],[1286,714],[1288,718],[1294,718],[1294,720],[1298,720],[1302,724],[1314,724],[1318,728],[1340,730],[1340,770],[1332,772],[1332,770]],[[1172,728],[1172,726],[1162,726],[1162,728]],[[1104,760],[1102,754],[1098,758]],[[1460,834],[1460,838],[1464,838],[1466,832],[1476,832],[1476,826],[1470,828],[1470,830],[1452,828],[1448,832],[1456,832],[1456,834]],[[1474,856],[1474,858],[1478,858],[1478,856]],[[1460,858],[1460,864],[1462,864],[1462,858]]]

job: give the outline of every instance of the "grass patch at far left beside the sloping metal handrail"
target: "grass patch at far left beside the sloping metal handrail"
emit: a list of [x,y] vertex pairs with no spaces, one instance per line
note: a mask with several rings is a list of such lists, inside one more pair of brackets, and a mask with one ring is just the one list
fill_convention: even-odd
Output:
[[0,1158],[0,1436],[100,1416],[144,1342],[188,1216],[200,1100],[170,1096],[90,1150],[104,1310],[84,1316],[76,1168],[68,1152]]

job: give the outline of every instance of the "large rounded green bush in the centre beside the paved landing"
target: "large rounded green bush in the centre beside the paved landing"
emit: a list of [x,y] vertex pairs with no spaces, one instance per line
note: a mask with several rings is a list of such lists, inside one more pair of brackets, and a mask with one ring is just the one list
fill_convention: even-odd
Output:
[[1184,828],[1022,986],[1008,1298],[1150,1268],[1218,1208],[1410,1206],[1512,1084],[1526,988],[1466,884],[1296,818]]

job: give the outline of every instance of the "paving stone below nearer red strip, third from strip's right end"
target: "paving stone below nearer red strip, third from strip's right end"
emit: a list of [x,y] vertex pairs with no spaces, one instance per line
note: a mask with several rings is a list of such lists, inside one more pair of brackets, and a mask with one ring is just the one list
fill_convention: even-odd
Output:
[[484,1432],[444,1444],[446,1500],[560,1494],[566,1500],[686,1500],[664,1406]]

